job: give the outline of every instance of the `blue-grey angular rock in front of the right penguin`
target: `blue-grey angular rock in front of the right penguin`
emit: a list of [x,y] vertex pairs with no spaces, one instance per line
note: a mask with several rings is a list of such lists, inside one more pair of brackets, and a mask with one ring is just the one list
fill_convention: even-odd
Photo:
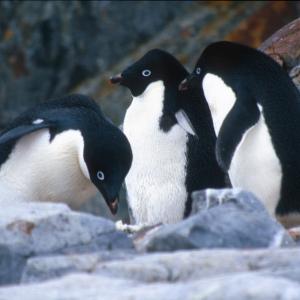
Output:
[[[261,202],[239,189],[208,189],[193,194],[195,215],[163,225],[135,243],[141,251],[197,248],[262,248],[294,245]],[[222,204],[222,205],[220,205]]]

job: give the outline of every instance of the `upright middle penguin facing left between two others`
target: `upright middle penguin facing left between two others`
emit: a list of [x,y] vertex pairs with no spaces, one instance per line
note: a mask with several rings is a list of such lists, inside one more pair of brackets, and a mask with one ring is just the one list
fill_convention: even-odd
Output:
[[133,152],[125,182],[134,223],[178,222],[190,213],[192,191],[225,186],[208,105],[178,90],[187,75],[172,55],[154,49],[111,78],[133,96],[123,128]]

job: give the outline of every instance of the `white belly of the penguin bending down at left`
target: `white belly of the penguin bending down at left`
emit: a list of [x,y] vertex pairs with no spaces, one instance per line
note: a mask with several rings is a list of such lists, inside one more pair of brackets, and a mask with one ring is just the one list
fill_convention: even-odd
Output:
[[69,130],[49,142],[48,129],[21,138],[0,168],[2,200],[65,202],[78,207],[96,193],[83,175],[83,139]]

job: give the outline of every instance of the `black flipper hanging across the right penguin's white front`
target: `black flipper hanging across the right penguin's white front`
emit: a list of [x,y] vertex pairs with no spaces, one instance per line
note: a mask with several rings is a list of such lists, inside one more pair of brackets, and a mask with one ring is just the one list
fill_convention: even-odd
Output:
[[216,156],[219,165],[225,171],[230,167],[232,156],[243,134],[259,120],[259,109],[254,101],[249,100],[244,103],[236,102],[221,126],[216,144]]

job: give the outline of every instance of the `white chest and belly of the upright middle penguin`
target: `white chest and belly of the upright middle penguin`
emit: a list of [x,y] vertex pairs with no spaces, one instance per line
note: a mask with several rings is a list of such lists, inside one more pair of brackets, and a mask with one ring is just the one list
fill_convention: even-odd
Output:
[[174,223],[184,214],[187,133],[178,125],[159,128],[163,99],[163,82],[150,84],[133,98],[124,120],[133,152],[125,181],[136,223]]

